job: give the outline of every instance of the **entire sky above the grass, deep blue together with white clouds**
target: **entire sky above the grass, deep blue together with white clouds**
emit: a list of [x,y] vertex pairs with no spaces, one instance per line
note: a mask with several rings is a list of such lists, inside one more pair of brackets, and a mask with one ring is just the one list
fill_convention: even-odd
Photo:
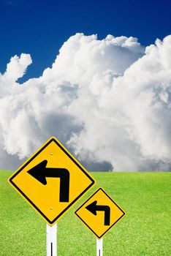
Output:
[[171,170],[170,10],[0,0],[1,168],[56,136],[88,170]]

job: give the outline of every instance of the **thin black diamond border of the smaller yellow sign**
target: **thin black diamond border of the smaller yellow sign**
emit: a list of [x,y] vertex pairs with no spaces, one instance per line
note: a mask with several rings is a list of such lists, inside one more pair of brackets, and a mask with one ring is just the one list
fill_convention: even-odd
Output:
[[[94,192],[94,194],[91,195],[91,197],[93,197],[99,190],[102,190],[102,192],[104,192],[104,194],[107,195],[107,193],[102,189],[102,187],[99,187],[99,189],[97,189],[96,192]],[[90,200],[91,197],[89,197],[88,200]],[[109,199],[115,204],[115,206],[117,206],[117,207],[123,212],[123,215],[119,218],[119,219],[121,219],[121,218],[125,215],[125,212],[121,209],[121,207],[119,207],[119,206],[117,205],[117,203],[115,203],[115,202],[113,201],[113,199],[112,199],[109,195],[107,195],[107,197],[109,197]],[[77,214],[77,211],[80,210],[80,208],[82,208],[82,207],[88,202],[88,200],[86,200],[86,202],[84,202],[82,206],[80,206],[79,208],[77,208],[77,210],[75,211],[75,214],[76,214],[77,217],[94,233],[94,235],[95,235],[97,238],[102,238],[102,236],[104,236],[104,234],[107,233],[107,231],[109,231],[110,228],[113,227],[113,226],[116,224],[116,222],[119,221],[119,219],[117,219],[117,221],[114,222],[113,225],[110,226],[110,227],[102,234],[102,236],[98,236],[98,235],[94,232],[94,230],[92,230],[91,227],[89,227],[88,224]]]

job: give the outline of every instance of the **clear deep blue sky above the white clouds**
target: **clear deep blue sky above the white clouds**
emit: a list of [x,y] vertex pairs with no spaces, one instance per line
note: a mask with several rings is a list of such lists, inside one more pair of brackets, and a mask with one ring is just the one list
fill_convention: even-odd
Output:
[[0,71],[11,56],[30,53],[33,64],[20,81],[38,77],[77,32],[137,37],[142,45],[171,31],[171,1],[0,0]]

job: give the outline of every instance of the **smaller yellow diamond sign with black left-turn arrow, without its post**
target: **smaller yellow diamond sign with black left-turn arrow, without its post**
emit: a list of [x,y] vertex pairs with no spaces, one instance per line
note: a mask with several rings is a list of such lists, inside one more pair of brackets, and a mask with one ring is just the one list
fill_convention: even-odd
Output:
[[125,213],[102,188],[99,188],[75,214],[100,239]]

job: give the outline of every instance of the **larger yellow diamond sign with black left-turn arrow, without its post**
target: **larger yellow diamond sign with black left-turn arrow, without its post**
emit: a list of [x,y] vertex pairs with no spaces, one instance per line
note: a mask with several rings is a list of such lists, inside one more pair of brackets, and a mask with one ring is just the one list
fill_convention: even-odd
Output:
[[49,225],[95,183],[56,138],[47,140],[8,181]]

